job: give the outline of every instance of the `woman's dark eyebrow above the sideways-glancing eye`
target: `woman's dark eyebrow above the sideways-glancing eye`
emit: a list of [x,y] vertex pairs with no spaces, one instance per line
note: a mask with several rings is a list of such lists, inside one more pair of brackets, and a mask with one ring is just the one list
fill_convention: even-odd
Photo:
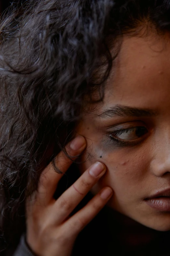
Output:
[[153,111],[150,109],[140,109],[123,105],[114,105],[102,111],[100,114],[97,114],[96,116],[100,118],[109,118],[115,116],[151,117],[157,115],[158,111]]

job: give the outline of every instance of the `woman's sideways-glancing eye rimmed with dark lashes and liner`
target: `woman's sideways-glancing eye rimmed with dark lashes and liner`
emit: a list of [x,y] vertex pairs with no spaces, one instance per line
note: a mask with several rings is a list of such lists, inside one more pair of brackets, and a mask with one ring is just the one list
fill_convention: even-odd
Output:
[[106,137],[119,146],[132,146],[140,143],[141,138],[143,138],[146,133],[148,133],[146,127],[138,126],[107,132]]

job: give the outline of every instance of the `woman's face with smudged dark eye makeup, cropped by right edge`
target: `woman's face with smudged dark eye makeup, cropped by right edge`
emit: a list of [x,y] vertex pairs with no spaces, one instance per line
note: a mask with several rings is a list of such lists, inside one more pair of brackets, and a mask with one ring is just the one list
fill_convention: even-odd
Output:
[[[87,106],[78,134],[87,139],[83,173],[92,163],[107,172],[93,187],[110,186],[108,206],[155,230],[170,230],[170,36],[124,37],[103,103]],[[170,204],[170,197],[169,197]],[[156,207],[157,205],[157,207]]]

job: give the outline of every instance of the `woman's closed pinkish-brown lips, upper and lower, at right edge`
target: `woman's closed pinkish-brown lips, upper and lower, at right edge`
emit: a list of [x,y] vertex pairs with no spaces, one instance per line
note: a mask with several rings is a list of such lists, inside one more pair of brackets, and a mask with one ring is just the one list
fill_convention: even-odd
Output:
[[170,188],[158,191],[145,199],[146,203],[161,212],[170,212]]

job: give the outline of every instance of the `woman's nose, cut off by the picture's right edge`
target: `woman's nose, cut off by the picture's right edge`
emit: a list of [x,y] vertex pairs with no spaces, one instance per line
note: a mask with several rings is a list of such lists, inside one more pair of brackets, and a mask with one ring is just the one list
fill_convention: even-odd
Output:
[[154,156],[150,164],[151,172],[157,177],[170,174],[170,132],[169,136],[164,136],[159,143],[157,142],[153,152]]

